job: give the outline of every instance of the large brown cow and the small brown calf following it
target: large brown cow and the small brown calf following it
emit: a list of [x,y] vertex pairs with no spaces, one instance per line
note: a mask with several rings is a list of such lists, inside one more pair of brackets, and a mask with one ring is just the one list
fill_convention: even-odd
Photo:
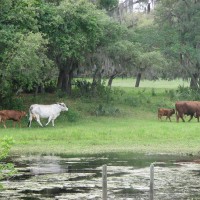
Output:
[[179,118],[184,120],[184,115],[190,116],[189,121],[193,117],[197,118],[197,121],[199,122],[200,117],[200,101],[177,101],[175,103],[175,109],[165,109],[165,108],[159,108],[158,109],[158,119],[162,119],[162,116],[166,116],[166,119],[170,119],[170,117],[175,114],[176,112],[176,121],[179,122]]

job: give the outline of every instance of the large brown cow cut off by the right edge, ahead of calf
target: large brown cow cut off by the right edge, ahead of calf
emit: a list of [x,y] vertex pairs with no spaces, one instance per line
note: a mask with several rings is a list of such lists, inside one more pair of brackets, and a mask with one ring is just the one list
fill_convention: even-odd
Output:
[[176,107],[176,121],[179,122],[179,118],[184,120],[184,115],[190,115],[191,121],[193,116],[195,116],[199,122],[199,113],[200,113],[200,101],[177,101],[175,104]]

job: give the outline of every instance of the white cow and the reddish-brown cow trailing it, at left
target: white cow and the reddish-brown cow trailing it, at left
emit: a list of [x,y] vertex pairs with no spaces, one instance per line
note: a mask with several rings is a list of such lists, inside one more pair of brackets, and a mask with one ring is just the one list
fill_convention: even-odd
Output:
[[[67,106],[64,103],[56,103],[51,105],[41,105],[41,104],[33,104],[29,108],[29,122],[28,127],[31,127],[31,122],[33,119],[43,127],[40,122],[40,118],[48,118],[48,122],[46,126],[52,122],[52,126],[54,126],[54,120],[60,115],[61,111],[68,111]],[[1,110],[0,111],[0,123],[4,124],[4,128],[6,128],[6,121],[12,120],[13,125],[15,127],[16,122],[21,127],[21,119],[27,116],[24,111],[17,110]]]

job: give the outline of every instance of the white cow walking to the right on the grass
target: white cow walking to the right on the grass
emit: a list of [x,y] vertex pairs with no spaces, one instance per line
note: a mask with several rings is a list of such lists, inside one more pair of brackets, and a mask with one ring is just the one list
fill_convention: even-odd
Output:
[[42,127],[43,125],[40,122],[40,118],[48,118],[48,122],[45,126],[47,126],[50,121],[52,121],[52,126],[54,126],[54,120],[60,115],[61,111],[68,111],[68,108],[64,103],[56,103],[51,105],[33,104],[29,108],[30,116],[28,127],[31,127],[33,118],[35,118]]

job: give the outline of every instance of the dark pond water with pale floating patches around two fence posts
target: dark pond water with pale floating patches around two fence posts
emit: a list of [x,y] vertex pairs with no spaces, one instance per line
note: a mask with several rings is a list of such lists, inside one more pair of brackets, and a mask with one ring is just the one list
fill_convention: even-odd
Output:
[[1,181],[0,199],[102,199],[107,165],[108,199],[149,199],[154,163],[154,199],[200,199],[200,159],[193,156],[112,153],[88,156],[28,155],[11,159],[18,174]]

